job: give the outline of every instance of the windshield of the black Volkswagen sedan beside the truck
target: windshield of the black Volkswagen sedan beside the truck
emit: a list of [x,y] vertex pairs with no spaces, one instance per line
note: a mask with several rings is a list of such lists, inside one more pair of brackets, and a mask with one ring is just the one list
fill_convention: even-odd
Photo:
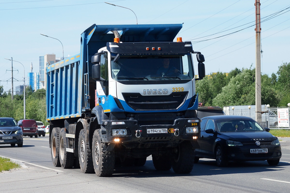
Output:
[[220,132],[264,131],[253,119],[222,119],[216,120]]

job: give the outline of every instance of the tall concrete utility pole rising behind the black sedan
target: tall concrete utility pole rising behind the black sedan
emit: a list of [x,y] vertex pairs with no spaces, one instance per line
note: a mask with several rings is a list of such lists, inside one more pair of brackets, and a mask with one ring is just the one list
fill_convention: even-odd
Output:
[[255,0],[256,8],[256,121],[262,122],[261,107],[261,17],[260,17],[260,0]]

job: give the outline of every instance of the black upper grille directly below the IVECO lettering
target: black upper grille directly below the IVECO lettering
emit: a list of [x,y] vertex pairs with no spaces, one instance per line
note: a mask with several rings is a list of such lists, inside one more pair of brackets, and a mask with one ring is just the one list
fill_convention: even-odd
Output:
[[122,93],[126,103],[136,111],[175,110],[181,106],[188,92],[173,92],[170,95],[142,96],[140,93]]

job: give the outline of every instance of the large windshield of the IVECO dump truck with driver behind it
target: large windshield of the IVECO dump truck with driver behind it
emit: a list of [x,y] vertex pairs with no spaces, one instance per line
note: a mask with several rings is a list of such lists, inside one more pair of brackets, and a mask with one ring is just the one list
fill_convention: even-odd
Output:
[[112,78],[128,80],[193,79],[191,54],[175,56],[121,56],[111,61]]

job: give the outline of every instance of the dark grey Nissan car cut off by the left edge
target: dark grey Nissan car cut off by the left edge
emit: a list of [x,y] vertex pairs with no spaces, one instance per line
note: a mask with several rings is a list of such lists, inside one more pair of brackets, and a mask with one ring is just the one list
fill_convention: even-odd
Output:
[[10,117],[0,118],[0,144],[10,144],[14,147],[23,146],[22,124],[17,125],[16,121]]

